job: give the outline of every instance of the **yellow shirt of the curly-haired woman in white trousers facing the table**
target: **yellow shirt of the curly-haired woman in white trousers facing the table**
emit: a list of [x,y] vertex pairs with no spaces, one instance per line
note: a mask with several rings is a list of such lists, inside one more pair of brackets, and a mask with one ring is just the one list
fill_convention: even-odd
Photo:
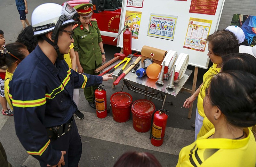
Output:
[[198,110],[198,114],[201,115],[202,117],[205,117],[204,107],[203,107],[205,90],[209,85],[209,81],[210,81],[209,77],[212,77],[220,72],[220,68],[217,68],[217,66],[218,66],[217,64],[213,64],[212,67],[206,73],[204,73],[204,77],[203,77],[204,84],[202,85],[200,89],[200,93],[197,97],[197,110]]

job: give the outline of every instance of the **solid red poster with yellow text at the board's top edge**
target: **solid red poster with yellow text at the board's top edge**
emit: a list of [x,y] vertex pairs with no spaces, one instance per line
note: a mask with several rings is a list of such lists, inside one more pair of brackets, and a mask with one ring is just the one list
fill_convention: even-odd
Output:
[[219,0],[191,0],[190,13],[215,15]]

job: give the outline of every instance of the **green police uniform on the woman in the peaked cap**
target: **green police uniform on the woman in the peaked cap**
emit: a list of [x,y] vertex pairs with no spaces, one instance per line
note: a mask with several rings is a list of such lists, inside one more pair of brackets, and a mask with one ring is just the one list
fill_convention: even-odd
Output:
[[[102,42],[100,29],[96,19],[89,23],[89,30],[82,24],[74,27],[74,51],[79,53],[79,61],[84,69],[84,73],[98,75],[94,70],[101,66],[102,56],[99,43]],[[84,88],[84,96],[88,101],[93,101],[94,87]]]

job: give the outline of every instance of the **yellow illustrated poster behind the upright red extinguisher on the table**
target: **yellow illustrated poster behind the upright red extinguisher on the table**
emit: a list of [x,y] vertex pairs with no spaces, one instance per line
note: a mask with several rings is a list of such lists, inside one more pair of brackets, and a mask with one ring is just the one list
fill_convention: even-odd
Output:
[[138,39],[140,30],[140,18],[141,12],[126,11],[125,13],[125,26],[129,26],[129,30],[132,32],[132,38]]

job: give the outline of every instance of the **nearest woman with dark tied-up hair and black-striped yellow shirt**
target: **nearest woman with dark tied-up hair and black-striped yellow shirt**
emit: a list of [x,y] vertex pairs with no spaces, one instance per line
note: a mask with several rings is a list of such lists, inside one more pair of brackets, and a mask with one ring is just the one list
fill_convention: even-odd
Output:
[[256,76],[230,70],[209,83],[203,106],[215,129],[182,148],[177,167],[254,167],[256,142],[248,127],[256,124]]

